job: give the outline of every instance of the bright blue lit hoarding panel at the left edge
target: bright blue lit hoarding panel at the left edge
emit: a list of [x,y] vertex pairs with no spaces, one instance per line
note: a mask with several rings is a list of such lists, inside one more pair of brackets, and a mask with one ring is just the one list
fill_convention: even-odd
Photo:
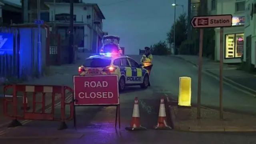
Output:
[[13,54],[13,35],[0,32],[0,55]]

